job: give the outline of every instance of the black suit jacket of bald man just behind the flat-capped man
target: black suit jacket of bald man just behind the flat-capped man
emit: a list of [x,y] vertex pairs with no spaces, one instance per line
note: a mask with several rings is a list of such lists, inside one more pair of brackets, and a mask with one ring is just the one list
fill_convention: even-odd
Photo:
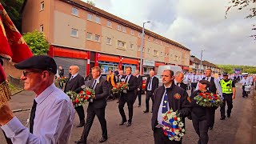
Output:
[[76,93],[79,93],[81,91],[81,86],[85,84],[85,80],[82,77],[82,75],[78,74],[76,77],[72,78],[71,80],[69,79],[66,82],[66,86],[64,88],[64,92],[68,91],[74,91]]

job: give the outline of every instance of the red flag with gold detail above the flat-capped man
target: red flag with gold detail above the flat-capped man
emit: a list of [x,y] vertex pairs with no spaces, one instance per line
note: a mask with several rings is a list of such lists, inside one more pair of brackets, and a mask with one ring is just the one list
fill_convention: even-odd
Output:
[[11,58],[13,62],[21,62],[26,58],[33,56],[29,46],[10,20],[0,3],[0,55],[5,58]]

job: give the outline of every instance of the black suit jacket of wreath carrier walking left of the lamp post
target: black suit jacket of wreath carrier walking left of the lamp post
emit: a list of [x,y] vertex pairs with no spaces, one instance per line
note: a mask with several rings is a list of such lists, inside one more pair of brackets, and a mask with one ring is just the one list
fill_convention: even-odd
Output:
[[[126,76],[124,77],[126,78]],[[127,93],[122,93],[121,97],[127,97],[128,101],[134,101],[134,95],[135,95],[135,90],[137,89],[137,78],[134,75],[130,75],[130,79],[128,81],[128,87],[129,90],[127,90]]]

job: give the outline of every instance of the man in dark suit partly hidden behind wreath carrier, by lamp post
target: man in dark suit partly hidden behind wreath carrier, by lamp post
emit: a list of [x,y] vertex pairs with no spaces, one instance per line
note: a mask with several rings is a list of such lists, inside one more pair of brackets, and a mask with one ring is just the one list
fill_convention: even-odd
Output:
[[142,106],[142,76],[139,75],[139,70],[135,70],[134,76],[137,78],[137,89],[135,90],[135,98],[136,101],[138,95],[138,107]]

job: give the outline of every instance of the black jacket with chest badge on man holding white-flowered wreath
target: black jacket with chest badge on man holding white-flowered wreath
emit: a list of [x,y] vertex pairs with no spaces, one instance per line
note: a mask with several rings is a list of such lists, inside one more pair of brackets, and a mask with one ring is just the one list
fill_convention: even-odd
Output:
[[[185,120],[190,114],[190,102],[187,100],[188,94],[186,90],[183,90],[181,87],[176,85],[171,85],[170,88],[166,89],[168,94],[168,102],[170,109],[174,111],[178,110],[178,113],[181,114],[182,120]],[[154,106],[153,106],[153,115],[151,118],[152,130],[158,125],[158,109],[160,107],[162,96],[165,92],[165,87],[160,86],[154,91]],[[180,98],[174,97],[179,95]]]

